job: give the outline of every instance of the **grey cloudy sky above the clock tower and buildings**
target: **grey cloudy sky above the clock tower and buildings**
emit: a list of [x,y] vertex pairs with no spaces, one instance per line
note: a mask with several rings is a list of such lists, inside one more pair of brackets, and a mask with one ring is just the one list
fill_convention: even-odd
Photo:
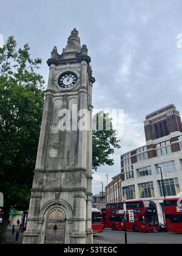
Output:
[[182,113],[181,0],[0,0],[0,34],[29,43],[33,57],[46,60],[53,46],[59,53],[70,31],[79,30],[92,57],[95,108],[123,108],[124,135],[115,165],[94,176],[93,193],[120,172],[120,155],[145,143],[147,113],[174,103]]

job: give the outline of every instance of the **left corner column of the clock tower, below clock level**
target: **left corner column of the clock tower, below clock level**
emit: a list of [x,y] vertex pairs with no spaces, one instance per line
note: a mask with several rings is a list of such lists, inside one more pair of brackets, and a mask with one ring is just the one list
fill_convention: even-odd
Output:
[[45,96],[44,113],[42,116],[41,137],[39,138],[38,155],[36,158],[35,175],[33,179],[32,196],[30,199],[27,231],[24,233],[24,244],[36,244],[39,241],[38,230],[39,208],[41,205],[41,191],[43,184],[44,169],[46,163],[47,144],[49,141],[49,127],[52,116],[53,96]]

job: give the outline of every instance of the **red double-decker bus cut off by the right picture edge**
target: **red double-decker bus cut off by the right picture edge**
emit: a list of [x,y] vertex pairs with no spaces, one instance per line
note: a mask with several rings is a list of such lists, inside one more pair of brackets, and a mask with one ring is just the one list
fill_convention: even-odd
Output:
[[164,199],[167,231],[182,233],[182,198]]

